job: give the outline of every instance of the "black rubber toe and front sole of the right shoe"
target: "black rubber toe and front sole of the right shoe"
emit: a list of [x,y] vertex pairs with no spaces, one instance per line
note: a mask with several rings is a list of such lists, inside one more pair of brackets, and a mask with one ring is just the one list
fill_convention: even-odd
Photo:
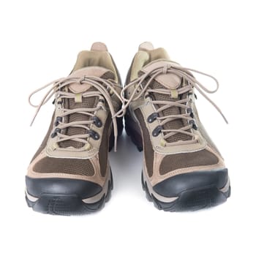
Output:
[[148,200],[163,211],[195,211],[217,206],[225,203],[231,191],[227,169],[173,176],[151,187],[152,192],[143,176],[142,184]]

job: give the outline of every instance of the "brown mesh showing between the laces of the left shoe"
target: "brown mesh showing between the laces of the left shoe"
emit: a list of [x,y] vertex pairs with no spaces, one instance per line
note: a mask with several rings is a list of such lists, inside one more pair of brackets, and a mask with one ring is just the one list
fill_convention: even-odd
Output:
[[[114,75],[113,72],[105,72],[104,75],[102,75],[103,79],[113,79]],[[88,91],[96,91],[96,89],[91,86],[91,88]],[[83,98],[83,102],[76,103],[75,99],[65,99],[64,100],[64,108],[67,109],[75,109],[75,108],[96,108],[98,103],[98,97],[86,97]],[[80,113],[73,113],[69,116],[67,116],[67,122],[72,121],[88,121],[91,118],[91,116],[86,116],[84,114]],[[87,133],[87,129],[83,129],[81,127],[68,127],[65,129],[64,134],[65,135],[84,135]],[[80,143],[78,141],[74,140],[65,140],[61,143],[59,143],[59,146],[61,148],[67,148],[69,146],[72,146],[74,148],[81,148],[83,146],[83,143]]]

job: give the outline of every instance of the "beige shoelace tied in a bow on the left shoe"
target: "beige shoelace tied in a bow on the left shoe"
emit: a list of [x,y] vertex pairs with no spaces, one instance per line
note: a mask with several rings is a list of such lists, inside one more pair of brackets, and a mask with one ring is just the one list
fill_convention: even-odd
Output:
[[[83,92],[82,97],[99,97],[99,99],[103,98],[106,100],[106,102],[108,102],[108,107],[110,109],[110,113],[111,113],[111,116],[113,119],[113,132],[114,132],[114,138],[115,138],[115,147],[114,148],[116,151],[116,143],[117,143],[117,137],[118,137],[116,118],[123,116],[123,114],[120,114],[121,111],[118,111],[118,113],[115,112],[115,108],[113,106],[113,102],[112,102],[112,99],[110,96],[110,92],[111,92],[111,94],[116,94],[116,97],[118,97],[118,99],[120,99],[120,101],[122,102],[120,95],[118,94],[118,92],[116,91],[116,89],[114,87],[116,85],[116,83],[114,83],[113,80],[105,80],[103,78],[98,78],[98,77],[94,77],[94,76],[83,76],[83,78],[67,77],[67,78],[60,78],[58,80],[53,80],[52,82],[46,84],[45,86],[40,87],[39,89],[33,91],[29,95],[29,104],[32,107],[37,108],[36,113],[34,114],[34,117],[31,121],[31,125],[33,124],[34,119],[36,118],[42,105],[45,105],[45,103],[48,102],[48,100],[53,96],[53,94],[55,94],[55,99],[58,101],[61,101],[61,99],[64,99],[64,98],[75,99],[75,94],[73,94],[72,92],[67,92],[67,91],[63,91],[63,90],[61,91],[61,89],[64,89],[64,87],[68,86],[70,83],[90,84],[91,86],[94,86],[94,88],[97,89],[97,91],[85,91],[85,92]],[[47,91],[45,96],[42,98],[41,102],[39,102],[39,105],[32,104],[31,97],[34,94],[36,94],[38,91],[41,91],[42,89],[45,89],[48,86],[52,86],[52,87],[50,88],[50,90]],[[55,135],[58,135],[58,138],[59,138],[57,143],[60,143],[61,141],[64,141],[64,140],[75,140],[77,142],[83,143],[84,146],[82,148],[68,148],[68,149],[61,148],[61,150],[84,151],[84,150],[89,149],[90,145],[87,141],[87,138],[89,138],[91,136],[89,133],[84,134],[84,135],[64,135],[64,134],[61,134],[61,129],[65,129],[67,127],[82,127],[89,131],[89,127],[88,127],[89,124],[94,123],[94,120],[72,121],[69,123],[64,123],[61,120],[63,120],[63,118],[65,116],[69,116],[72,113],[82,113],[84,115],[91,116],[93,119],[94,111],[97,111],[100,108],[104,109],[104,106],[103,106],[102,102],[100,102],[100,101],[96,108],[76,108],[73,110],[62,108],[63,114],[61,114],[59,116],[59,120],[57,120],[58,121],[58,129],[55,129]]]

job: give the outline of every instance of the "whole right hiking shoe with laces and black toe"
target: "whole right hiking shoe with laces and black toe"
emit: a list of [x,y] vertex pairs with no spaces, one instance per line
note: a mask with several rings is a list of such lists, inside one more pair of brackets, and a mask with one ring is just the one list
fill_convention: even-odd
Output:
[[230,196],[227,168],[195,107],[196,89],[221,113],[206,96],[217,89],[206,89],[192,72],[197,71],[181,67],[163,48],[145,42],[122,91],[127,135],[144,152],[143,188],[164,211],[217,206]]

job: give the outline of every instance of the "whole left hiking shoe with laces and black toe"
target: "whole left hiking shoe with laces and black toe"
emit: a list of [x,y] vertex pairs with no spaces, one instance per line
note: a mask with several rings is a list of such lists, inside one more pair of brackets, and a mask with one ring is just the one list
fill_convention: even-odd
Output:
[[[121,80],[107,47],[95,42],[78,54],[67,78],[55,80],[37,108],[55,99],[50,127],[28,168],[26,201],[44,214],[101,209],[113,188],[108,151],[121,135]],[[38,89],[37,91],[41,90]],[[34,91],[30,97],[37,91]],[[32,105],[32,103],[31,103]]]

